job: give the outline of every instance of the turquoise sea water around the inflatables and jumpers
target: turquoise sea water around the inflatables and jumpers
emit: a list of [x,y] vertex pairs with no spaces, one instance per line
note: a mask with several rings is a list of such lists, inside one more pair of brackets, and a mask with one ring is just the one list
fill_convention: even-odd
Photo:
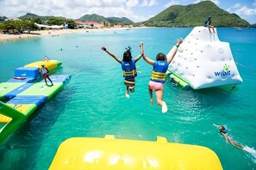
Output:
[[[0,82],[9,80],[17,67],[45,55],[62,61],[56,74],[72,75],[59,94],[0,144],[0,169],[47,169],[67,138],[106,134],[148,141],[161,136],[170,143],[202,145],[215,151],[224,169],[256,169],[256,29],[218,28],[219,39],[230,43],[243,83],[229,94],[229,88],[184,90],[167,81],[166,114],[149,104],[152,66],[143,59],[137,63],[135,92],[126,99],[121,65],[100,49],[106,46],[122,58],[124,48],[131,46],[136,57],[143,41],[147,56],[155,58],[158,52],[169,52],[176,39],[185,38],[191,30],[106,30],[0,42]],[[213,123],[226,125],[229,135],[246,150],[225,143]]]

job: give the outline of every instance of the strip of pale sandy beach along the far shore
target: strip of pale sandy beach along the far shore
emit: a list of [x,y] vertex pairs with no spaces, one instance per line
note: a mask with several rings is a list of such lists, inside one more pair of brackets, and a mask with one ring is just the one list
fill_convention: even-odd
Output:
[[59,30],[41,30],[31,31],[30,33],[22,34],[4,34],[0,33],[0,41],[18,40],[18,39],[34,39],[41,36],[57,36],[63,33],[97,33],[99,31],[114,31],[116,29],[125,29],[127,27],[111,27],[111,28],[97,28],[97,29],[59,29]]

